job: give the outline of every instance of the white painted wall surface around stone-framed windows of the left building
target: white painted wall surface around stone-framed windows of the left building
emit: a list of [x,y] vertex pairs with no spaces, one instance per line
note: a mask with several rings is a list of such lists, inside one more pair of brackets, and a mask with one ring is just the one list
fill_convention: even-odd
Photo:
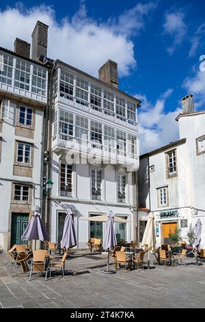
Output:
[[[23,104],[26,106],[25,104]],[[32,208],[41,205],[40,186],[42,185],[42,132],[43,132],[44,112],[36,112],[36,129],[34,138],[28,139],[15,135],[16,122],[16,102],[10,101],[10,112],[8,120],[3,121],[2,129],[2,149],[0,162],[0,249],[10,248],[11,219],[10,202],[12,181],[28,182],[33,184]],[[33,177],[20,177],[13,175],[14,167],[14,147],[15,140],[33,143]]]

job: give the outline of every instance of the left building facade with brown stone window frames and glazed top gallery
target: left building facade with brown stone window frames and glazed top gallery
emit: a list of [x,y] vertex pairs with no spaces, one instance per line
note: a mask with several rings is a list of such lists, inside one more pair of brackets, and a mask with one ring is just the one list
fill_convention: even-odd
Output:
[[47,82],[46,67],[0,49],[0,251],[22,243],[41,207]]

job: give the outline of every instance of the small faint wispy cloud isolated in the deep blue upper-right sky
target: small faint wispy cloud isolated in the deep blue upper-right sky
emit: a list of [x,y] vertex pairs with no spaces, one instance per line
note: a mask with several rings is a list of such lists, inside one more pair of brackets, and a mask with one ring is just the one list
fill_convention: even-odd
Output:
[[164,34],[173,38],[172,45],[167,48],[169,55],[172,55],[176,48],[181,45],[187,34],[187,25],[184,18],[184,14],[180,11],[165,13]]

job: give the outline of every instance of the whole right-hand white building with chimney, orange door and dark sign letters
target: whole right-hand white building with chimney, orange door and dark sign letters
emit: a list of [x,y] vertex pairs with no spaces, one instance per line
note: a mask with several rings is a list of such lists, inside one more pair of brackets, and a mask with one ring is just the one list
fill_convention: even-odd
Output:
[[205,111],[194,112],[192,95],[182,99],[182,106],[176,118],[180,140],[140,157],[139,229],[152,211],[157,246],[169,244],[176,226],[189,241],[187,233],[200,218],[205,247]]

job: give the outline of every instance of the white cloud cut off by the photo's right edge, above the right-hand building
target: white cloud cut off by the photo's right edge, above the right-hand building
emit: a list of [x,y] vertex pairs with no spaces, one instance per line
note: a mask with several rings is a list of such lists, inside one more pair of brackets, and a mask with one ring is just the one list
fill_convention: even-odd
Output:
[[205,71],[200,71],[200,69],[195,71],[192,77],[184,79],[182,87],[194,95],[195,109],[204,106],[205,110]]

